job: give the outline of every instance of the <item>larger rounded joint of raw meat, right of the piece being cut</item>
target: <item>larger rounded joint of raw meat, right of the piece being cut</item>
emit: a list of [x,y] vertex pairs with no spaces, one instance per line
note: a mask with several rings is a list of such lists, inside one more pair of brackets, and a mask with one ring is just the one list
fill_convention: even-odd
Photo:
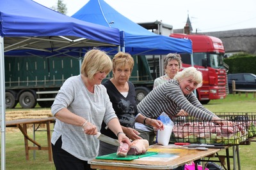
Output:
[[146,139],[137,139],[132,141],[131,148],[127,155],[140,155],[146,153],[148,148],[149,144]]

